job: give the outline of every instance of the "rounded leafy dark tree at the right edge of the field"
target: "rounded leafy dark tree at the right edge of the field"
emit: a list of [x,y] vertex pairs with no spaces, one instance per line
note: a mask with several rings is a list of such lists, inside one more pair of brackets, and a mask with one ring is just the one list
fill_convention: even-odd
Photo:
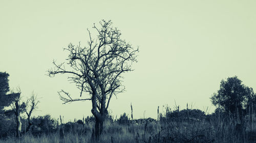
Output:
[[254,97],[252,88],[246,87],[237,76],[234,76],[222,79],[220,90],[214,93],[210,100],[223,112],[242,118],[251,102],[249,99]]

